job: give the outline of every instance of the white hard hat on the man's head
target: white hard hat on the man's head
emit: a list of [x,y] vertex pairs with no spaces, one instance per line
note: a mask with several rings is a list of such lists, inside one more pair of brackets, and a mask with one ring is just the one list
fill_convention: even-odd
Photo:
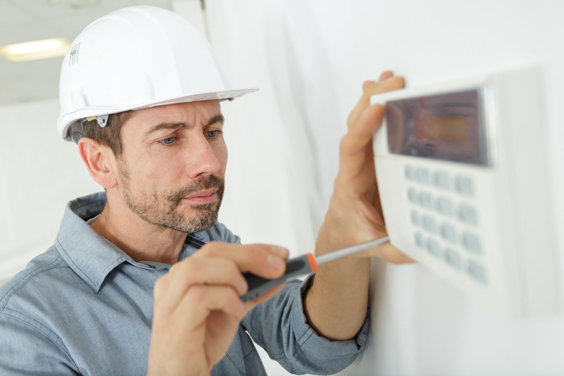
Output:
[[133,6],[95,20],[74,39],[61,67],[57,129],[70,141],[86,119],[105,126],[117,112],[257,90],[231,89],[206,38],[182,16]]

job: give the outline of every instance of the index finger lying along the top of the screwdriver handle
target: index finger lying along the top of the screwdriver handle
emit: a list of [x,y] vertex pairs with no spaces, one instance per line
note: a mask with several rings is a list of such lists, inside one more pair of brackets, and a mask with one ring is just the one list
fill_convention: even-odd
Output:
[[288,257],[287,249],[267,244],[228,244],[209,242],[191,257],[213,257],[231,259],[241,272],[251,272],[263,278],[278,278],[283,275]]

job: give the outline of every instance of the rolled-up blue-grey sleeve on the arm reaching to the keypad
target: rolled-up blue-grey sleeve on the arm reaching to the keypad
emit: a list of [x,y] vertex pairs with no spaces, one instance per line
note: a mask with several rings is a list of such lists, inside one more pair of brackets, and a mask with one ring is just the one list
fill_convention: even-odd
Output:
[[[240,243],[239,236],[223,224],[218,226],[224,242]],[[241,325],[270,356],[293,374],[331,375],[345,369],[363,350],[370,325],[367,310],[364,324],[355,338],[329,340],[318,335],[303,313],[303,295],[313,276],[292,280],[266,302],[250,311]]]

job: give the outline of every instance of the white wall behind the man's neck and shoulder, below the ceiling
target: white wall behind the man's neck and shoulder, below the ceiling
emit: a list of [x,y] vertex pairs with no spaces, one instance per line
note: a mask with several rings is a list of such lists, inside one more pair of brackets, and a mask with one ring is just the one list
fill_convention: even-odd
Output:
[[103,189],[58,117],[58,99],[0,107],[0,285],[53,245],[67,201]]

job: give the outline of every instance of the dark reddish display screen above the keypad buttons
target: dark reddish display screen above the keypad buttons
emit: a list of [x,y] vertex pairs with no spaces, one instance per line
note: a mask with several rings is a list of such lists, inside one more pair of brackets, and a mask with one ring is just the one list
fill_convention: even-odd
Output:
[[390,153],[488,164],[482,89],[386,103]]

